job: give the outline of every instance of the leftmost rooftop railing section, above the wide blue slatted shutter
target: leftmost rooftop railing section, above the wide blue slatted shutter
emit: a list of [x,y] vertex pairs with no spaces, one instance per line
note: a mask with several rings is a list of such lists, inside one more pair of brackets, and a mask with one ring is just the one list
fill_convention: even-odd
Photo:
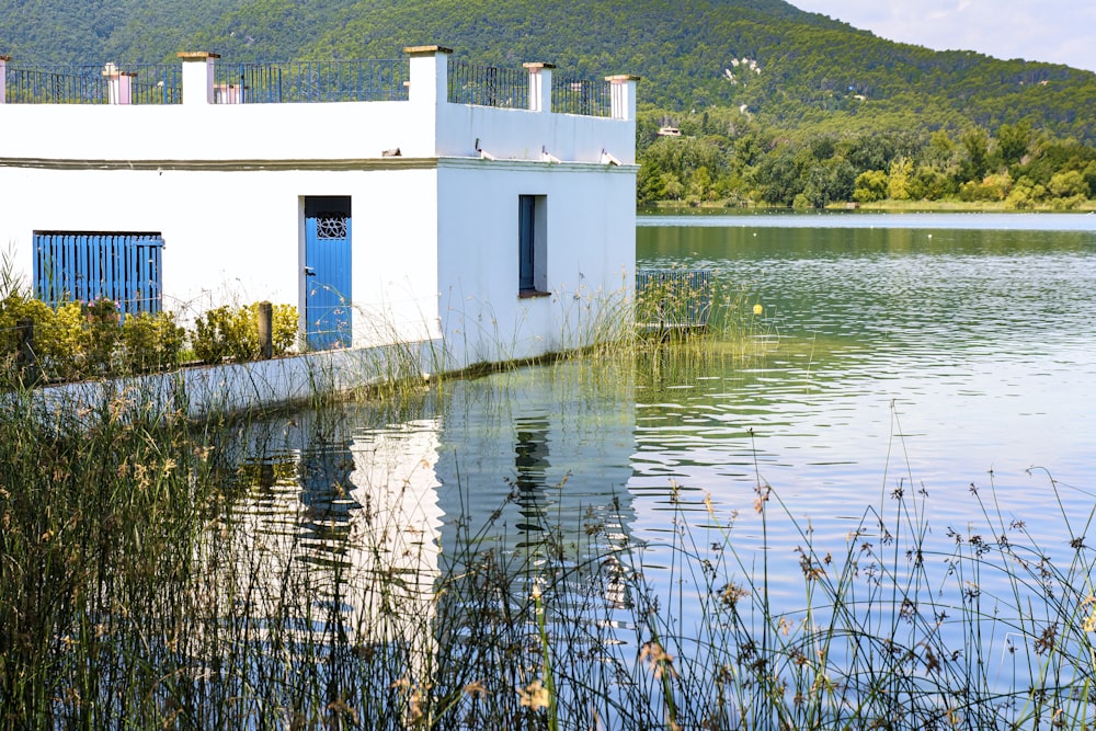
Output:
[[178,65],[8,65],[4,72],[9,104],[179,104],[183,99]]

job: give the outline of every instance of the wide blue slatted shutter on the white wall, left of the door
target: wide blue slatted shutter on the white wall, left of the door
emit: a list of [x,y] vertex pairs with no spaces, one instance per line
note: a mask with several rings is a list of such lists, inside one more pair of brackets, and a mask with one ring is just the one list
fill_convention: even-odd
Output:
[[36,231],[34,296],[50,307],[110,299],[123,315],[162,306],[159,233]]

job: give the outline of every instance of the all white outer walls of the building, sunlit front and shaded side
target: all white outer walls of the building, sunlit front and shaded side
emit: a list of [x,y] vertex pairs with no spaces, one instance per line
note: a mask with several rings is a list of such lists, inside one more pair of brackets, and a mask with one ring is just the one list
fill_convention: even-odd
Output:
[[[444,52],[412,55],[407,102],[209,104],[203,68],[184,65],[180,105],[0,104],[18,273],[35,231],[155,231],[184,322],[264,299],[304,317],[304,201],[349,196],[355,346],[444,335],[446,366],[527,357],[581,344],[630,295],[633,119],[449,104]],[[549,297],[518,297],[522,194],[547,199]]]

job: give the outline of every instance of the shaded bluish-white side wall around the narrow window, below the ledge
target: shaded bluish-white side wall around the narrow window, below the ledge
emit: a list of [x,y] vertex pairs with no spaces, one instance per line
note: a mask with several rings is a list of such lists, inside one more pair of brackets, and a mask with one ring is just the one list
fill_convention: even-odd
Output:
[[[631,165],[439,163],[438,312],[455,362],[582,345],[619,317],[635,287],[635,174]],[[545,196],[549,296],[520,296],[520,195]]]

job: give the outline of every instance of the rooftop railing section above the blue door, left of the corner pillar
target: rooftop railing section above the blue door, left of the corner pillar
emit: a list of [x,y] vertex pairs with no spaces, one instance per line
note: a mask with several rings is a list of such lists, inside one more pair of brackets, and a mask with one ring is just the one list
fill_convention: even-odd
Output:
[[408,99],[408,60],[218,64],[218,104],[388,102]]

